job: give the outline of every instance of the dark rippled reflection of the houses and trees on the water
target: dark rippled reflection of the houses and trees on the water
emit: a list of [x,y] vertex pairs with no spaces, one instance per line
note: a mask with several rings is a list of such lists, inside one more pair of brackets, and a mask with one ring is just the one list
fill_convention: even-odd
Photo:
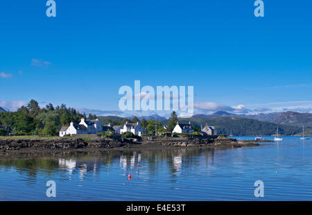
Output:
[[[15,167],[20,172],[36,175],[37,171],[52,173],[55,169],[71,175],[80,173],[80,178],[89,171],[98,174],[101,166],[119,164],[124,171],[139,173],[141,162],[147,163],[150,175],[157,173],[159,163],[167,164],[173,178],[183,169],[196,170],[201,162],[206,165],[214,161],[214,150],[201,148],[170,148],[149,150],[97,150],[55,151],[0,155],[0,167]],[[28,157],[28,158],[27,158]],[[29,158],[31,157],[31,158]],[[145,165],[144,165],[145,166]]]

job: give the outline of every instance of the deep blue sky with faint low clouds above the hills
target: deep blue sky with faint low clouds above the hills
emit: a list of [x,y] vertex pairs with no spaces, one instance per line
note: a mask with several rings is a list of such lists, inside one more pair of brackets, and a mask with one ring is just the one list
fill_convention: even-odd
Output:
[[0,106],[118,110],[141,80],[194,86],[202,113],[312,110],[311,1],[55,2],[1,1]]

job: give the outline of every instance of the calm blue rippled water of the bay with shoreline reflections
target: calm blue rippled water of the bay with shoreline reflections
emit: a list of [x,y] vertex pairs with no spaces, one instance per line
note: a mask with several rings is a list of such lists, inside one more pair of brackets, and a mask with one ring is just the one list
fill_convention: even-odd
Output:
[[[46,197],[48,180],[56,182],[56,198]],[[254,197],[256,180],[264,183],[264,198]],[[312,140],[284,137],[229,150],[0,155],[0,200],[312,200]]]

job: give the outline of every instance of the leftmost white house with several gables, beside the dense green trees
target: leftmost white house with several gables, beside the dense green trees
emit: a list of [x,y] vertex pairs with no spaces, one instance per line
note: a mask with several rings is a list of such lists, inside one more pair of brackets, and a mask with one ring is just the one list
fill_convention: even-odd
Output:
[[98,119],[81,119],[79,124],[71,122],[69,126],[62,126],[60,130],[60,137],[64,137],[64,135],[96,134],[102,131],[103,127]]

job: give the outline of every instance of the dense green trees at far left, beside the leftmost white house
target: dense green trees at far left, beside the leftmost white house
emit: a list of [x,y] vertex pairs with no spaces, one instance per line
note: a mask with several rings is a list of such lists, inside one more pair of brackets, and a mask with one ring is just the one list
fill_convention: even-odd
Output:
[[79,123],[81,118],[96,119],[96,115],[87,117],[74,108],[62,104],[53,107],[50,103],[40,108],[35,100],[21,106],[16,112],[0,112],[0,136],[6,135],[58,135],[62,126]]

